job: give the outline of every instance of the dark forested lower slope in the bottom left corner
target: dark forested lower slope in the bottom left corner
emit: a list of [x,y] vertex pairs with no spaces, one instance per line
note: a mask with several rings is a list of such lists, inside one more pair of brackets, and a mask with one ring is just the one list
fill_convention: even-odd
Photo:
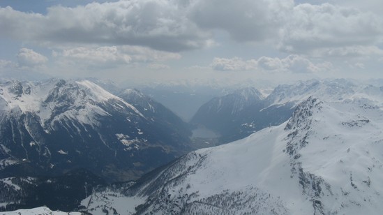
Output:
[[71,170],[59,177],[0,179],[0,211],[41,205],[70,211],[98,186],[106,186],[105,181],[84,169]]

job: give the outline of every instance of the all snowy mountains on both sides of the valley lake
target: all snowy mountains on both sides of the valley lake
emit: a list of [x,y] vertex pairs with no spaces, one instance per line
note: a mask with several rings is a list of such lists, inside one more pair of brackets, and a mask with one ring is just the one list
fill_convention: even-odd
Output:
[[236,90],[192,119],[221,144],[236,141],[186,155],[190,125],[136,89],[107,88],[113,94],[87,80],[0,83],[3,210],[383,211],[383,87],[307,80],[267,96]]

